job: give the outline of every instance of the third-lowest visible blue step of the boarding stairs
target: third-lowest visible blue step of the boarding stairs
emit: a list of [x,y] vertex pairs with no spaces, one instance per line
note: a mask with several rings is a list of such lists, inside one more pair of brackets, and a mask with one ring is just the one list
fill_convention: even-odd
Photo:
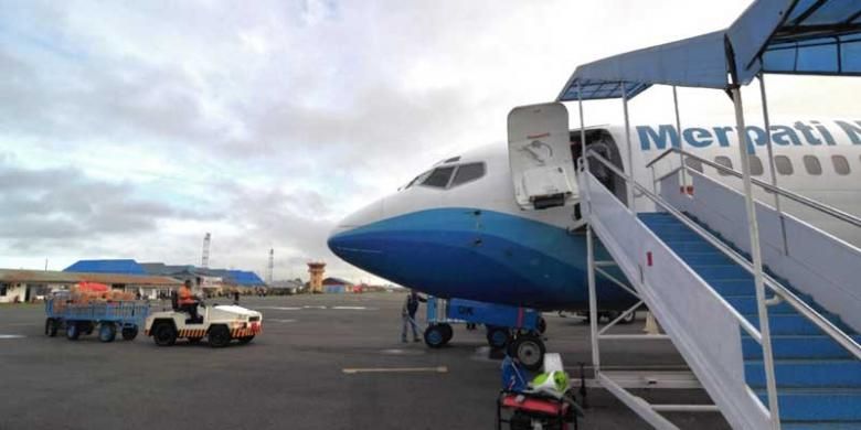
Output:
[[[852,338],[861,343],[861,336]],[[772,351],[776,359],[787,358],[852,358],[853,355],[831,337],[821,336],[773,336]],[[742,337],[742,353],[745,359],[762,359],[763,348],[753,337]]]

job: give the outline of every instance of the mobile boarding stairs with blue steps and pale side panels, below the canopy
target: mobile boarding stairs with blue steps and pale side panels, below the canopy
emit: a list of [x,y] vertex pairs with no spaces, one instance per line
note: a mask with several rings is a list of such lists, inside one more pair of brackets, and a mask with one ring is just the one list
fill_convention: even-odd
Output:
[[[679,149],[669,152],[741,178]],[[650,212],[626,206],[589,163],[623,178]],[[763,202],[755,204],[758,223],[751,228],[743,194],[679,164],[645,186],[594,151],[581,160],[591,308],[596,310],[596,272],[617,265],[638,305],[655,314],[715,405],[649,405],[633,395],[600,369],[599,341],[613,336],[593,325],[595,381],[661,429],[676,426],[660,412],[685,410],[720,410],[735,429],[861,429],[861,250]],[[649,166],[653,173],[653,162]],[[791,200],[861,227],[858,217],[753,183],[767,198]],[[747,257],[755,255],[755,233],[762,266]],[[593,234],[615,261],[594,260]]]

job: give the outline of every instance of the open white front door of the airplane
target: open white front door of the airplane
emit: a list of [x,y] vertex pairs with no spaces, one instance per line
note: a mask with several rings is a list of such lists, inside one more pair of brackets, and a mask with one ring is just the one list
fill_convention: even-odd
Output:
[[561,103],[521,106],[508,114],[508,159],[521,208],[535,211],[578,202],[568,110]]

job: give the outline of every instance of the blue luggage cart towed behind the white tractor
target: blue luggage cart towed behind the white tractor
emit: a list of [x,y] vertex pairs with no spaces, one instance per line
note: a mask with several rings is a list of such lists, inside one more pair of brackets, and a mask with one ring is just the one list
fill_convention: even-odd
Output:
[[66,337],[76,341],[98,326],[98,338],[113,342],[117,331],[134,340],[149,315],[149,304],[137,301],[72,303],[61,298],[45,301],[45,334],[56,336],[65,329]]

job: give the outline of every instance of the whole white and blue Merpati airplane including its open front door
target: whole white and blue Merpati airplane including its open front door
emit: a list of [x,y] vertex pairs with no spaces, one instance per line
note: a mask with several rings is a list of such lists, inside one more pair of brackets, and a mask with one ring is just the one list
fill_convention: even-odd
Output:
[[[681,139],[673,125],[633,126],[634,170],[628,165],[624,126],[589,127],[586,146],[626,173],[633,171],[640,184],[652,183],[646,163],[678,147],[680,140],[685,151],[741,171],[733,123],[683,128]],[[861,120],[773,121],[770,130],[779,186],[861,213]],[[747,136],[754,153],[752,175],[769,182],[765,131],[751,126]],[[347,216],[332,232],[328,246],[353,266],[435,297],[585,311],[586,236],[574,180],[580,140],[580,129],[568,127],[564,105],[515,108],[509,115],[508,146],[485,146],[439,161],[397,192]],[[665,160],[674,160],[677,168],[680,163],[678,154]],[[692,159],[687,163],[741,189],[736,178],[718,174]],[[592,163],[592,172],[626,202],[624,180],[597,164]],[[549,171],[559,178],[548,179]],[[568,186],[568,202],[528,198],[530,181],[542,181],[536,172],[538,176],[544,174],[544,181],[556,185],[562,181],[563,187]],[[774,198],[765,193],[757,197],[766,203]],[[635,195],[640,211],[648,209],[647,203]],[[791,206],[791,202],[784,202],[787,212],[793,213]],[[814,225],[827,225],[843,240],[861,245],[853,226],[831,225],[815,214],[800,215]],[[609,259],[600,246],[596,252],[596,258]],[[596,282],[600,310],[620,311],[636,302],[609,279],[598,276]]]

